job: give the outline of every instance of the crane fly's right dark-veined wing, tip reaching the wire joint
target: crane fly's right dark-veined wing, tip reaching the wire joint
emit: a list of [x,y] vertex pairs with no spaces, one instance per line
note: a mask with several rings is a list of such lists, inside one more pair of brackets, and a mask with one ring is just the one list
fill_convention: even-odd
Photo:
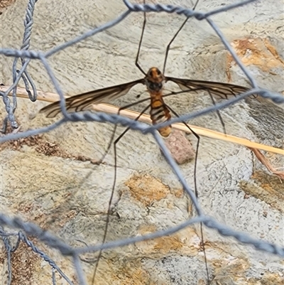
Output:
[[[190,80],[181,79],[175,77],[165,77],[165,81],[175,82],[181,90],[188,90],[197,92],[199,90],[205,90],[210,92],[212,95],[216,95],[222,99],[229,99],[231,96],[239,95],[249,90],[247,87],[242,87],[234,84],[223,83],[223,82],[210,82],[203,80]],[[251,95],[257,97],[257,95]]]

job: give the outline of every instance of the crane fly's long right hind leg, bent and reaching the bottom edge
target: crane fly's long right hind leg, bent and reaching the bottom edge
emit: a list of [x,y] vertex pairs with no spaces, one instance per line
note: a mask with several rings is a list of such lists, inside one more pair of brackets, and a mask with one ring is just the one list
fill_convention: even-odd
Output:
[[[166,107],[168,107],[168,109],[170,109],[170,112],[172,112],[176,117],[180,117],[178,115],[177,112],[175,112],[175,110],[173,110],[173,108],[169,107],[168,105],[166,105]],[[197,146],[196,146],[196,152],[195,152],[195,171],[194,171],[194,179],[195,179],[195,196],[196,198],[198,198],[198,191],[197,191],[197,181],[196,181],[196,171],[197,171],[197,156],[198,156],[198,149],[200,146],[200,136],[193,131],[190,126],[188,126],[188,124],[185,121],[182,121],[183,124],[185,124],[185,126],[187,127],[187,129],[189,129],[192,134],[197,138]],[[204,262],[205,262],[205,268],[206,268],[206,274],[207,274],[207,284],[210,284],[209,281],[209,269],[208,269],[208,264],[207,264],[207,256],[206,256],[206,251],[205,251],[205,245],[204,245],[204,235],[203,235],[203,228],[202,228],[202,222],[200,222],[200,232],[201,232],[201,241],[202,241],[202,250],[204,252]]]

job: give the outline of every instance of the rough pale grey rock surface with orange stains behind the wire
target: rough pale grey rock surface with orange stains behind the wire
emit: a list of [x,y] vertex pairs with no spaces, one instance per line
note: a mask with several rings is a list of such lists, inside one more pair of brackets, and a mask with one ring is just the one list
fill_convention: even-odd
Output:
[[[210,11],[234,1],[200,1]],[[17,0],[1,14],[1,46],[19,48],[28,1]],[[188,6],[188,1],[163,1]],[[31,49],[50,50],[125,11],[123,1],[38,1]],[[212,17],[261,87],[282,92],[283,2],[256,1]],[[184,21],[176,14],[147,14],[139,62],[143,69],[163,66],[165,48]],[[68,95],[135,80],[143,76],[134,61],[143,14],[131,14],[108,31],[72,45],[48,59]],[[3,31],[3,33],[2,33]],[[0,82],[11,84],[13,58],[0,55]],[[38,90],[54,92],[43,65],[28,65]],[[170,50],[166,75],[248,85],[217,35],[205,22],[189,21]],[[23,82],[21,82],[23,86]],[[168,89],[171,88],[167,87]],[[115,104],[133,102],[143,87],[134,88]],[[143,96],[147,96],[143,94]],[[179,114],[212,104],[206,95],[178,95],[167,103]],[[38,114],[43,102],[18,100],[21,130],[55,122]],[[141,107],[141,106],[140,106]],[[134,108],[135,109],[135,108]],[[136,109],[139,109],[136,107]],[[4,118],[1,104],[1,119]],[[228,134],[283,147],[284,115],[266,100],[246,100],[222,111]],[[222,131],[217,115],[190,122]],[[1,146],[1,211],[18,215],[50,230],[74,247],[102,242],[114,181],[114,151],[102,158],[113,126],[68,123],[42,136]],[[124,129],[119,127],[120,134]],[[196,139],[187,136],[196,147]],[[129,131],[117,145],[118,168],[107,240],[163,230],[192,216],[192,206],[178,179],[149,135]],[[275,166],[283,158],[268,156]],[[180,166],[193,184],[194,161]],[[202,138],[197,162],[197,188],[204,213],[252,237],[283,244],[283,183],[241,146]],[[204,228],[209,278],[212,284],[283,284],[283,260],[258,252]],[[76,284],[70,259],[32,240]],[[3,244],[1,245],[4,249]],[[91,260],[97,254],[84,254]],[[1,280],[6,282],[7,258],[1,250]],[[11,260],[13,284],[52,284],[49,264],[26,244]],[[21,265],[19,265],[21,264]],[[82,263],[88,284],[94,264]],[[24,272],[24,274],[23,274]],[[58,284],[66,284],[56,274]],[[61,282],[61,283],[60,283]],[[170,237],[111,249],[103,253],[95,284],[206,284],[200,227],[188,227]],[[282,283],[281,283],[282,282]]]

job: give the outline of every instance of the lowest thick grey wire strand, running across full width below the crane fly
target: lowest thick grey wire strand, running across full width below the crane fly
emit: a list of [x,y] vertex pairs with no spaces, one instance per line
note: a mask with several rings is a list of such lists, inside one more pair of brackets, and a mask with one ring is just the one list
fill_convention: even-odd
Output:
[[221,235],[226,237],[234,237],[236,240],[242,243],[253,245],[258,250],[263,252],[269,252],[280,257],[284,257],[284,247],[280,247],[277,244],[272,244],[271,242],[265,242],[263,240],[256,240],[247,235],[244,232],[238,232],[236,230],[232,230],[230,227],[226,225],[222,225],[221,223],[217,222],[214,217],[209,217],[205,215],[200,215],[198,217],[194,217],[190,220],[186,220],[185,222],[181,222],[180,225],[175,227],[170,227],[167,230],[161,230],[157,232],[153,232],[148,235],[141,235],[138,237],[129,237],[123,240],[116,240],[114,242],[106,242],[104,244],[99,245],[89,245],[88,247],[77,247],[73,248],[70,247],[65,242],[62,242],[58,237],[53,235],[52,233],[41,230],[38,225],[35,225],[32,222],[23,222],[19,217],[7,217],[4,214],[0,214],[0,223],[2,225],[6,225],[8,227],[13,227],[16,229],[23,230],[27,233],[27,235],[35,235],[38,237],[39,240],[48,244],[49,247],[58,249],[61,254],[75,257],[77,254],[83,254],[87,252],[98,252],[102,249],[111,249],[114,247],[123,247],[128,244],[133,244],[135,242],[142,242],[145,240],[153,240],[157,237],[163,237],[166,235],[173,235],[175,232],[178,232],[189,225],[197,224],[203,222],[204,225],[210,227],[214,230],[217,230]]

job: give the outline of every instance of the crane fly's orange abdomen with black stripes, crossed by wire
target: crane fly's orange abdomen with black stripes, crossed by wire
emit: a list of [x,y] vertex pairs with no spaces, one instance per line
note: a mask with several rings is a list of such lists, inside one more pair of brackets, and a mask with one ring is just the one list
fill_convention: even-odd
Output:
[[[160,124],[170,119],[170,110],[165,106],[162,92],[151,94],[151,120],[153,124]],[[172,130],[171,126],[158,129],[161,136],[168,136]]]

